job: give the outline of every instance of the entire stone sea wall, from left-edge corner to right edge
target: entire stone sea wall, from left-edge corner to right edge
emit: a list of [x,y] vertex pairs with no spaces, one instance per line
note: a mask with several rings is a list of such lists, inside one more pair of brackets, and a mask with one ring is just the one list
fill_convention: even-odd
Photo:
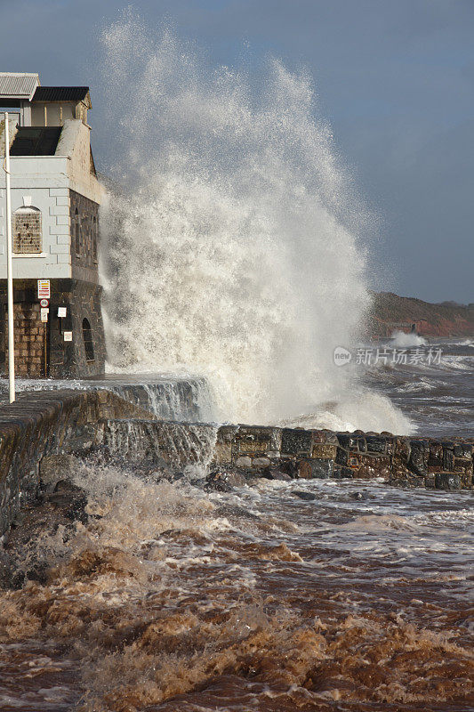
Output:
[[224,479],[232,472],[269,479],[382,477],[398,486],[471,490],[473,450],[474,441],[459,438],[161,421],[107,390],[29,392],[0,408],[0,535],[36,498],[46,472],[60,477],[65,457],[70,466],[68,456],[93,451],[158,469],[202,464]]

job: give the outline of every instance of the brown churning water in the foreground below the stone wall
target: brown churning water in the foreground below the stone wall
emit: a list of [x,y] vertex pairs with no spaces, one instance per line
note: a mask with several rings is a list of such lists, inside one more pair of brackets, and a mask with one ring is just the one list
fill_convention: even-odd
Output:
[[470,492],[198,477],[84,465],[88,519],[16,541],[0,709],[473,708]]

